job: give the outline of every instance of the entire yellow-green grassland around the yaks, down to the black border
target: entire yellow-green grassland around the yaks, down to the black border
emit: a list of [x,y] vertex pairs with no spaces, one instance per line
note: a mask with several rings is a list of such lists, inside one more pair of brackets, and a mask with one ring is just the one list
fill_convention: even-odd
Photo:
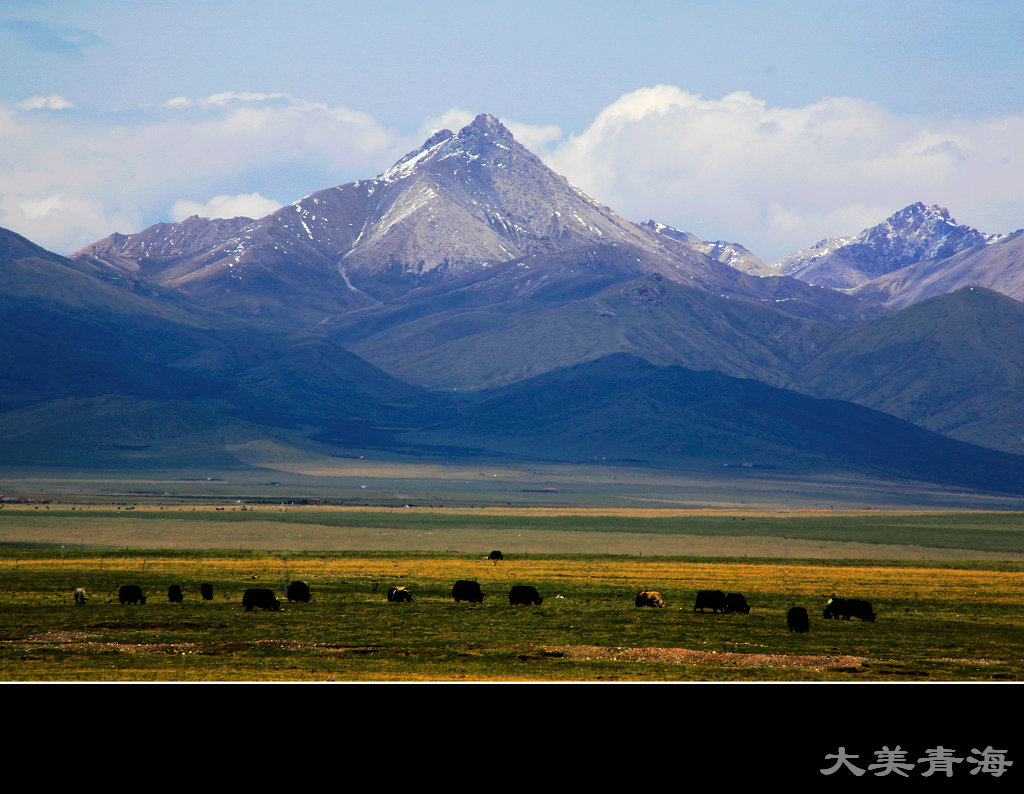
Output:
[[[1024,679],[1017,513],[50,507],[0,511],[2,680]],[[430,533],[446,550],[417,549]],[[385,536],[406,548],[347,545]],[[566,537],[623,548],[557,550]],[[665,553],[680,538],[727,551]],[[641,542],[650,551],[629,550]],[[795,542],[890,556],[783,554]],[[488,548],[506,559],[488,561]],[[309,603],[243,609],[247,587],[283,599],[293,579],[309,582]],[[457,579],[478,581],[483,603],[456,603]],[[119,603],[125,583],[147,603]],[[544,602],[510,607],[520,583]],[[171,584],[182,603],[168,600]],[[393,584],[415,601],[388,603]],[[72,600],[79,586],[84,607]],[[637,609],[641,589],[668,607]],[[741,592],[751,614],[694,613],[699,589]],[[870,600],[878,620],[824,620],[833,592]],[[809,634],[787,631],[793,604],[811,614]]]

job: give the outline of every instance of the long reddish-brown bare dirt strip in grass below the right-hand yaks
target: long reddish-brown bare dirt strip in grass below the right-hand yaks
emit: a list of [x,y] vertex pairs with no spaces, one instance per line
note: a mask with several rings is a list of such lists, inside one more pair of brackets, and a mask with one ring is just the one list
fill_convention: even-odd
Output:
[[670,664],[709,664],[730,667],[797,667],[803,670],[849,670],[869,664],[861,656],[793,656],[790,654],[737,654],[732,652],[691,651],[686,647],[603,647],[601,645],[546,645],[549,653],[561,653],[570,659],[612,662],[663,662]]

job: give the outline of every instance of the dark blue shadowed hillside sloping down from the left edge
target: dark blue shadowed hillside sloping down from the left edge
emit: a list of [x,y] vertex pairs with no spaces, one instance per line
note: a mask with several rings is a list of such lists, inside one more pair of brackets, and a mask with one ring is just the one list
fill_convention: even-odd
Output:
[[[158,287],[98,278],[11,233],[0,234],[0,410],[120,395],[194,403],[267,425],[315,419],[337,428],[400,424],[425,399],[323,336],[282,333]],[[109,418],[117,405],[106,404]]]

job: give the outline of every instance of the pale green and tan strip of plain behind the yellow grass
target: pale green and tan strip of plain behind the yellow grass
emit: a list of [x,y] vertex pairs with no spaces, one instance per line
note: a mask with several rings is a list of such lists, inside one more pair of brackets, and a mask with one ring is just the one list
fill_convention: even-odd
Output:
[[807,558],[1021,559],[1010,511],[8,505],[0,543],[66,548],[422,550]]

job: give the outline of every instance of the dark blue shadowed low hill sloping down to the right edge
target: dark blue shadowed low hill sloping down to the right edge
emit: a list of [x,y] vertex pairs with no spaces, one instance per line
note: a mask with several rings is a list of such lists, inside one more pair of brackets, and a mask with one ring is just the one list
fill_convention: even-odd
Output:
[[1024,491],[1024,458],[839,401],[617,354],[480,392],[429,436],[558,460],[872,472]]

